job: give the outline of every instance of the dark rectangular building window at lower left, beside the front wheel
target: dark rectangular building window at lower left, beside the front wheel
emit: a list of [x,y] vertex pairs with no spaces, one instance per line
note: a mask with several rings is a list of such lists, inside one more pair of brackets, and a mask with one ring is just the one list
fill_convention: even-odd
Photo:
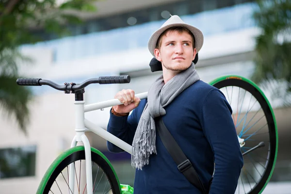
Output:
[[0,179],[35,175],[36,146],[0,149]]

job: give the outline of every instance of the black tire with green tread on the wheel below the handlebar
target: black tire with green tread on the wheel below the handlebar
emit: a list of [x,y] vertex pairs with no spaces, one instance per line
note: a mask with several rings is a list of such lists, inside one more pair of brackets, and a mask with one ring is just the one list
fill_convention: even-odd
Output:
[[[84,146],[72,147],[58,156],[49,166],[49,169],[42,178],[36,194],[48,194],[53,182],[61,174],[65,167],[69,166],[72,162],[80,160],[85,160]],[[106,174],[108,180],[110,181],[113,194],[121,194],[121,187],[118,177],[113,169],[113,166],[104,154],[91,147],[91,160],[92,162],[95,162]]]

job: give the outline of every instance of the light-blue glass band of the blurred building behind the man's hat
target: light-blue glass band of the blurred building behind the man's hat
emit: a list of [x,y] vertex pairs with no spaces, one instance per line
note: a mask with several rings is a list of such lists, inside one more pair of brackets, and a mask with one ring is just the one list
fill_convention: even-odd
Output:
[[[181,6],[180,9],[186,8]],[[251,18],[253,10],[253,3],[243,3],[198,14],[190,13],[181,18],[186,23],[199,28],[204,36],[208,36],[254,27],[255,23]],[[146,48],[149,37],[161,27],[164,21],[165,19],[162,19],[109,31],[64,37],[24,47],[52,49],[56,63],[102,53]]]

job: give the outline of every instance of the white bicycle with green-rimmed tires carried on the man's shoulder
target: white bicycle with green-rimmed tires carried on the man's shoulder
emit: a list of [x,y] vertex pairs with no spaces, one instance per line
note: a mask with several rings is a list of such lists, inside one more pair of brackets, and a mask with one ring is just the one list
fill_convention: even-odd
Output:
[[[61,191],[61,193],[62,191],[65,191],[69,194],[74,194],[76,192],[80,193],[80,190],[83,194],[85,192],[87,192],[87,194],[95,194],[96,192],[101,192],[103,194],[122,194],[124,192],[133,192],[133,189],[130,187],[128,188],[128,191],[123,191],[122,187],[124,185],[119,183],[119,179],[109,160],[96,148],[90,146],[89,141],[85,135],[85,131],[92,131],[131,154],[131,146],[129,144],[123,142],[108,131],[98,127],[94,123],[84,118],[84,113],[86,112],[100,109],[102,110],[104,108],[119,105],[121,103],[118,99],[112,99],[84,105],[83,101],[83,94],[85,92],[84,88],[89,84],[113,84],[129,82],[129,76],[99,77],[86,80],[81,84],[70,82],[65,83],[64,85],[59,85],[52,81],[42,79],[17,79],[16,83],[18,85],[49,85],[54,89],[64,91],[65,94],[75,95],[74,104],[76,107],[76,135],[71,143],[71,148],[59,155],[49,166],[49,169],[39,184],[37,194],[54,194],[54,191],[55,193],[58,191]],[[220,89],[225,94],[226,99],[228,100],[233,110],[232,117],[237,129],[238,141],[241,145],[242,155],[244,158],[244,166],[242,168],[242,173],[236,192],[240,193],[243,191],[245,194],[259,194],[264,190],[273,174],[277,156],[278,135],[273,109],[268,99],[265,97],[264,93],[259,89],[259,87],[254,82],[246,78],[240,76],[224,76],[211,81],[210,85]],[[232,90],[230,95],[228,93],[229,87],[231,87]],[[241,90],[243,99],[240,98]],[[136,96],[140,99],[145,99],[147,97],[147,92],[136,94]],[[233,100],[235,100],[233,97],[238,97],[235,103],[233,102]],[[246,108],[245,104],[243,104],[245,98],[248,101],[248,108]],[[241,106],[239,106],[240,102]],[[256,110],[256,113],[253,111],[251,112],[251,110]],[[241,113],[245,113],[244,116],[242,116]],[[263,116],[259,116],[258,113],[263,114]],[[251,116],[253,115],[253,117],[249,120],[248,114]],[[258,120],[253,121],[254,118],[258,118]],[[266,124],[259,128],[256,125],[262,122],[262,118],[265,118],[263,120],[266,122]],[[251,127],[248,127],[249,125]],[[253,128],[254,126],[256,126],[256,128]],[[254,139],[255,137],[258,139]],[[268,146],[265,146],[266,140]],[[77,146],[77,142],[83,142],[84,146]],[[259,158],[259,161],[255,160],[257,158]],[[81,169],[83,168],[81,165],[82,160],[85,160],[86,184],[84,188],[81,189]],[[79,161],[80,165],[78,165]],[[262,161],[264,164],[261,163]],[[259,168],[259,166],[262,167]],[[92,177],[93,169],[97,170],[97,174],[94,179]],[[77,171],[79,172],[79,170],[80,173],[78,184]],[[98,174],[99,170],[103,171],[102,175]],[[101,181],[104,174],[107,178],[107,181]],[[77,187],[75,187],[75,178]],[[250,180],[249,178],[252,179]],[[60,180],[59,183],[57,180]],[[249,186],[249,188],[247,188],[247,192],[244,186],[244,182],[246,181]],[[241,184],[242,189],[240,187]],[[98,186],[102,187],[98,188]]]

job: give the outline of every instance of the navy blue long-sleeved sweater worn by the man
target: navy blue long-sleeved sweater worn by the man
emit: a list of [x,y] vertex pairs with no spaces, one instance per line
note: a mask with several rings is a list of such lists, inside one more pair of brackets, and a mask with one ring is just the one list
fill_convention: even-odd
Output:
[[[146,99],[129,116],[111,113],[107,130],[132,145],[133,136],[146,105]],[[192,162],[205,188],[215,173],[210,194],[234,194],[243,165],[231,107],[220,90],[196,81],[168,106],[162,117],[186,157]],[[107,142],[109,151],[122,152]],[[149,164],[136,170],[134,194],[200,194],[178,171],[157,133],[157,154]]]

